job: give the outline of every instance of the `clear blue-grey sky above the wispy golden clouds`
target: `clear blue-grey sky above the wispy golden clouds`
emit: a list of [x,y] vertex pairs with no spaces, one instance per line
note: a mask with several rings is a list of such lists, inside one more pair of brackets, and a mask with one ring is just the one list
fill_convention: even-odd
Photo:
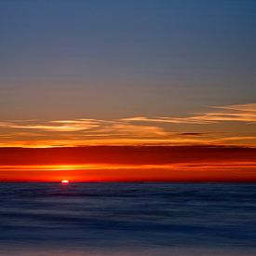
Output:
[[255,10],[255,1],[1,1],[1,115],[175,115],[252,102]]

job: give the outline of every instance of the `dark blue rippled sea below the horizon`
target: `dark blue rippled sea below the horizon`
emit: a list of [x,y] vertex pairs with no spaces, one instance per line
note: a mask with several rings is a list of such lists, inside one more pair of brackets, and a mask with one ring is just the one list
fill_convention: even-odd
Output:
[[0,183],[1,255],[256,255],[256,184]]

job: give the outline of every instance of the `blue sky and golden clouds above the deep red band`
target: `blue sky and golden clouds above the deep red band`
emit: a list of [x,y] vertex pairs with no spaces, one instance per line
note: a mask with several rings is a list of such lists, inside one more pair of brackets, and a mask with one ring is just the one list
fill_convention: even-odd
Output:
[[0,0],[0,147],[254,148],[255,13],[253,0]]

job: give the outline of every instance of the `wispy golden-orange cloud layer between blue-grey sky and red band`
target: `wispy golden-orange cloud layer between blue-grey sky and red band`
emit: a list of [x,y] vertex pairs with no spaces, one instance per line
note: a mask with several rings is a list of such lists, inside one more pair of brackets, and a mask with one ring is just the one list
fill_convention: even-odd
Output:
[[[231,124],[234,122],[236,126]],[[251,125],[256,125],[256,103],[214,106],[206,112],[178,117],[7,120],[0,121],[0,146],[232,143],[251,146],[256,145],[256,129],[254,132]]]

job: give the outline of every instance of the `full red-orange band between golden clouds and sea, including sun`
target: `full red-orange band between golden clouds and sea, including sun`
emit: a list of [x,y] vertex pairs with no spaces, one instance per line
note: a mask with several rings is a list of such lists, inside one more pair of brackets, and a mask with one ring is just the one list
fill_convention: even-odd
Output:
[[256,149],[0,149],[0,182],[256,182]]

